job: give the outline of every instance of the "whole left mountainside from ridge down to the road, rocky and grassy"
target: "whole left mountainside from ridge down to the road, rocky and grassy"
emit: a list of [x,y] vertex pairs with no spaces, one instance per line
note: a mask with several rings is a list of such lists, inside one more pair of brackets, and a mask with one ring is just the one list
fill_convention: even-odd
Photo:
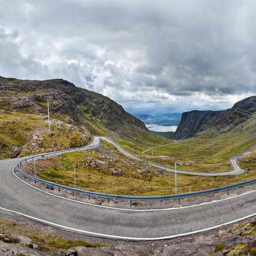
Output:
[[0,129],[0,158],[83,146],[93,135],[112,136],[121,142],[125,138],[127,145],[137,148],[159,141],[116,102],[62,79],[0,76]]

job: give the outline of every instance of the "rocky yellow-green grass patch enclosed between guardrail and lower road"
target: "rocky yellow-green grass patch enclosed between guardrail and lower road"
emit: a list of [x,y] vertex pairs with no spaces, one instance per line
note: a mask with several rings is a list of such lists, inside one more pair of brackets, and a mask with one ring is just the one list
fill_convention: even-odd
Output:
[[[112,144],[103,141],[102,147],[64,153],[36,160],[38,177],[76,188],[119,195],[153,196],[175,193],[174,173],[153,167],[147,162],[124,156]],[[33,173],[33,163],[22,165]],[[177,192],[185,193],[228,185],[255,177],[255,171],[232,176],[194,176],[177,174]]]

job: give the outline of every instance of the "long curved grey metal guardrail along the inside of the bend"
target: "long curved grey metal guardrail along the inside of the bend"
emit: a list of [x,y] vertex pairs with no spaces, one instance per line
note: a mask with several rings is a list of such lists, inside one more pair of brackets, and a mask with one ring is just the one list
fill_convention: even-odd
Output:
[[239,182],[239,183],[226,185],[224,187],[206,189],[206,190],[202,190],[202,191],[195,191],[195,192],[189,192],[189,193],[164,195],[164,196],[124,196],[124,195],[113,195],[113,194],[106,194],[106,193],[98,193],[98,192],[93,192],[93,191],[86,191],[86,190],[82,190],[82,189],[67,187],[67,186],[64,186],[64,185],[56,184],[54,182],[42,180],[40,178],[31,176],[30,174],[27,174],[27,173],[23,172],[20,169],[20,166],[22,166],[22,163],[27,162],[29,160],[49,157],[50,155],[57,155],[57,154],[65,153],[65,152],[72,152],[72,151],[83,150],[83,149],[86,149],[86,148],[97,147],[98,145],[99,144],[94,145],[94,146],[86,146],[86,147],[83,147],[83,148],[57,151],[57,152],[45,153],[45,154],[40,154],[40,155],[36,155],[36,156],[33,156],[33,157],[29,157],[29,158],[26,158],[26,159],[23,159],[22,161],[20,161],[17,165],[17,169],[21,174],[23,174],[23,177],[30,178],[30,179],[34,180],[35,183],[36,182],[44,183],[44,184],[46,184],[46,186],[48,186],[48,188],[51,188],[51,189],[59,188],[59,191],[60,191],[60,189],[68,190],[68,191],[71,191],[73,195],[74,195],[74,193],[87,195],[87,196],[89,196],[89,199],[90,199],[90,196],[102,197],[102,198],[108,199],[108,202],[109,202],[109,199],[128,200],[128,201],[130,201],[130,204],[131,204],[132,201],[157,201],[157,200],[173,200],[173,199],[179,199],[179,201],[180,201],[180,199],[182,199],[182,198],[208,195],[208,194],[222,192],[222,191],[227,191],[227,193],[229,193],[230,189],[239,188],[239,187],[243,187],[245,185],[250,185],[250,184],[256,183],[256,178],[254,178],[252,180],[242,181],[242,182]]

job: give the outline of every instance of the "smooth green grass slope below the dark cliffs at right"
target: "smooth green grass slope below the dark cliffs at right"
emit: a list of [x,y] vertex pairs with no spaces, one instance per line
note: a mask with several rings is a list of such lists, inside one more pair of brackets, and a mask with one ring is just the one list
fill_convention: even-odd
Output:
[[195,138],[155,148],[154,154],[167,155],[181,161],[194,161],[198,164],[219,163],[227,162],[230,157],[244,152],[255,144],[256,113],[253,113],[250,118],[228,132],[212,136],[211,129],[208,129]]

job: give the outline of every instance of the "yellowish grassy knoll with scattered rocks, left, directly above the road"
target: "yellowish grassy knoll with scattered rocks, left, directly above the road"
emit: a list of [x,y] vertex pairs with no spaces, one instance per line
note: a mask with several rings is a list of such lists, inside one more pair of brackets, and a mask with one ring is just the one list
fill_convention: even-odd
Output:
[[47,116],[0,111],[0,158],[20,157],[44,152],[82,147],[91,136],[78,127]]

